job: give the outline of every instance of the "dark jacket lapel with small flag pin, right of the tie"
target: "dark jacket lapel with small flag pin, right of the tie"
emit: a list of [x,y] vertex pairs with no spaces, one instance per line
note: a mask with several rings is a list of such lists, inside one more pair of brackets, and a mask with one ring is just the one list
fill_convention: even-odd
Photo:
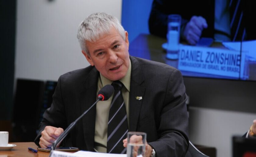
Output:
[[[130,111],[129,111],[129,131],[136,131],[140,109],[144,98],[145,87],[143,87],[143,75],[139,62],[130,56],[132,63],[131,82],[130,82]],[[141,100],[136,97],[142,97]]]

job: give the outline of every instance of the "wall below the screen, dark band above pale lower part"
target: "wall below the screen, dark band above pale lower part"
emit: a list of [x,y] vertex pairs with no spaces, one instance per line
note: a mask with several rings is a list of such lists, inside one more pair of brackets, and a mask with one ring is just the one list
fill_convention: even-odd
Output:
[[244,135],[256,119],[256,82],[184,77],[190,96],[189,136],[194,144],[232,156],[231,138]]

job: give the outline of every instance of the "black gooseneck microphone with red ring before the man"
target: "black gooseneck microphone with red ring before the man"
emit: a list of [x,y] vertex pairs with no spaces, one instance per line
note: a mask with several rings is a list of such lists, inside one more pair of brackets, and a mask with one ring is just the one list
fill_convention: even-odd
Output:
[[52,144],[52,150],[55,150],[56,146],[59,145],[59,143],[68,135],[68,133],[71,131],[72,128],[76,125],[77,121],[79,121],[84,115],[98,102],[98,101],[105,101],[108,100],[109,97],[114,93],[114,87],[110,84],[104,86],[101,88],[101,90],[98,92],[98,99],[94,102],[94,104],[91,105],[90,108],[88,108],[80,117],[78,117],[75,121],[73,121],[64,132],[53,142]]

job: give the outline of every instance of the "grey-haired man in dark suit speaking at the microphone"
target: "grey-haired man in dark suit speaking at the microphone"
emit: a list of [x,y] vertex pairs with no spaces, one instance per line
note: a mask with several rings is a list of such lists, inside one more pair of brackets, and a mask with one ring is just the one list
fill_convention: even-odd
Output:
[[[121,92],[91,108],[61,145],[126,153],[126,133],[141,131],[147,133],[147,157],[185,156],[189,145],[187,95],[180,71],[130,56],[128,32],[106,13],[88,16],[79,25],[77,37],[91,65],[59,77],[35,143],[42,148],[51,147],[63,130],[96,101],[98,91],[113,84],[122,87]],[[119,108],[114,107],[117,99],[123,99]],[[110,116],[112,109],[116,112]],[[112,118],[121,110],[125,115],[117,119],[120,125],[110,132]],[[123,132],[117,134],[120,131]]]

